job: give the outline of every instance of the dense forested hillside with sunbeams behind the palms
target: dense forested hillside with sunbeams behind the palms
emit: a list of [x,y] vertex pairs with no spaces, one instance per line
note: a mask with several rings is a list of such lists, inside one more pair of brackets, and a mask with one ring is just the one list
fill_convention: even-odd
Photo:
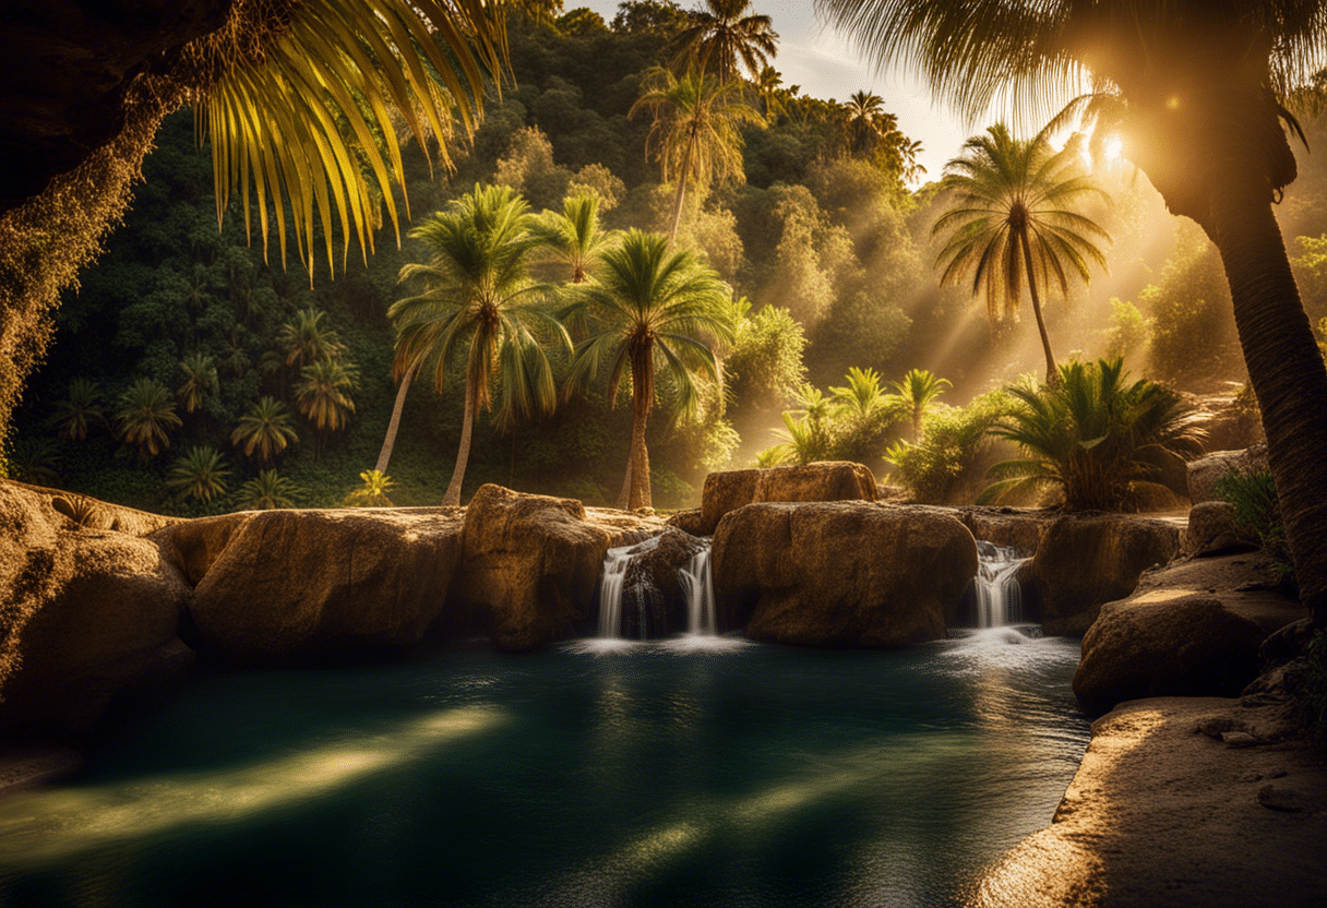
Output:
[[[410,208],[418,224],[476,186],[499,185],[548,219],[567,199],[593,195],[609,238],[667,235],[675,224],[675,246],[727,284],[731,339],[705,336],[722,382],[698,378],[683,412],[664,406],[677,389],[660,380],[662,409],[646,429],[653,503],[691,504],[707,471],[758,457],[845,457],[924,496],[957,494],[934,485],[918,442],[971,446],[970,433],[999,409],[999,389],[1044,373],[1042,345],[1028,312],[993,321],[970,285],[941,285],[932,226],[947,196],[941,174],[908,189],[921,182],[917,145],[889,98],[811,98],[782,84],[776,56],[755,58],[758,72],[738,58],[709,78],[733,80],[734,102],[750,113],[730,119],[697,167],[694,149],[686,163],[660,154],[662,108],[640,104],[665,85],[660,73],[675,73],[674,36],[693,21],[683,7],[629,0],[605,21],[560,3],[524,5],[528,15],[508,23],[512,80],[490,92],[474,135],[450,142],[451,167],[402,130]],[[694,101],[661,94],[661,105]],[[677,122],[687,129],[685,117]],[[1311,147],[1327,143],[1327,121],[1304,127]],[[1300,162],[1282,228],[1322,332],[1327,169],[1318,155]],[[1131,166],[1092,159],[1084,146],[1080,167],[1101,189],[1084,214],[1113,243],[1089,283],[1052,284],[1042,300],[1058,358],[1123,356],[1135,374],[1176,389],[1235,393],[1246,376],[1229,289],[1202,231],[1170,216]],[[61,300],[56,340],[16,416],[11,474],[183,514],[348,496],[437,503],[456,459],[464,372],[413,382],[398,400],[406,374],[387,315],[409,292],[402,268],[429,258],[423,242],[397,250],[387,232],[366,263],[350,255],[336,280],[325,263],[312,281],[293,258],[283,268],[275,244],[264,258],[261,243],[247,242],[236,199],[218,230],[211,157],[187,113],[166,121],[143,175],[106,254]],[[324,238],[311,239],[317,262]],[[551,247],[536,259],[532,281],[572,293]],[[549,348],[560,382],[572,357]],[[943,385],[917,405],[908,394],[925,394],[905,381],[910,370]],[[462,500],[500,482],[613,503],[632,443],[630,381],[609,390],[605,372],[563,393],[551,413],[476,414]],[[389,423],[390,462],[373,470]],[[938,447],[925,455],[955,457]]]

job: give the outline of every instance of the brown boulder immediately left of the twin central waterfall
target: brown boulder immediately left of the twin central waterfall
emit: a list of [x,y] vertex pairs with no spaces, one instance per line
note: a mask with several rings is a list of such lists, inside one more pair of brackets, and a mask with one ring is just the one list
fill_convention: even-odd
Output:
[[503,649],[588,632],[604,554],[664,530],[656,518],[587,512],[571,498],[482,486],[468,507],[450,603],[474,612]]

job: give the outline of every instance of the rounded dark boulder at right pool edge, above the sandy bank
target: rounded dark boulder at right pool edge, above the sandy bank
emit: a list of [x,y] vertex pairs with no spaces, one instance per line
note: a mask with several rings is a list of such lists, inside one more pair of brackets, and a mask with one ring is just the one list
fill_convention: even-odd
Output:
[[1100,714],[1139,697],[1233,697],[1258,673],[1258,648],[1307,616],[1266,588],[1254,555],[1177,562],[1107,603],[1083,636],[1074,693]]

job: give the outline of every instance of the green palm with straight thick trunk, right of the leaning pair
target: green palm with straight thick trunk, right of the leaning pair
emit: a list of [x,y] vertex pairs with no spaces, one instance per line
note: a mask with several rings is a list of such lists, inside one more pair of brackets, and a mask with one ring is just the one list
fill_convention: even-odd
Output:
[[[608,398],[617,401],[624,376],[632,382],[629,482],[617,506],[650,507],[650,459],[645,426],[654,406],[656,373],[674,389],[675,412],[691,416],[701,390],[697,373],[719,381],[713,344],[734,339],[731,291],[687,250],[670,251],[658,234],[632,230],[606,251],[568,309],[588,335],[576,345],[569,384],[584,384],[609,362]],[[662,360],[656,362],[656,353]]]

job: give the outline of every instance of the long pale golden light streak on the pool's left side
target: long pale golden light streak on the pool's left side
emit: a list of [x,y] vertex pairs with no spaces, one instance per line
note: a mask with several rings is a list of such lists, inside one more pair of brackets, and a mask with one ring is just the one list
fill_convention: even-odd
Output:
[[5,843],[0,868],[58,862],[186,827],[243,822],[326,796],[503,719],[503,712],[492,706],[464,706],[386,734],[236,769],[21,793],[5,799],[0,815],[0,842]]

